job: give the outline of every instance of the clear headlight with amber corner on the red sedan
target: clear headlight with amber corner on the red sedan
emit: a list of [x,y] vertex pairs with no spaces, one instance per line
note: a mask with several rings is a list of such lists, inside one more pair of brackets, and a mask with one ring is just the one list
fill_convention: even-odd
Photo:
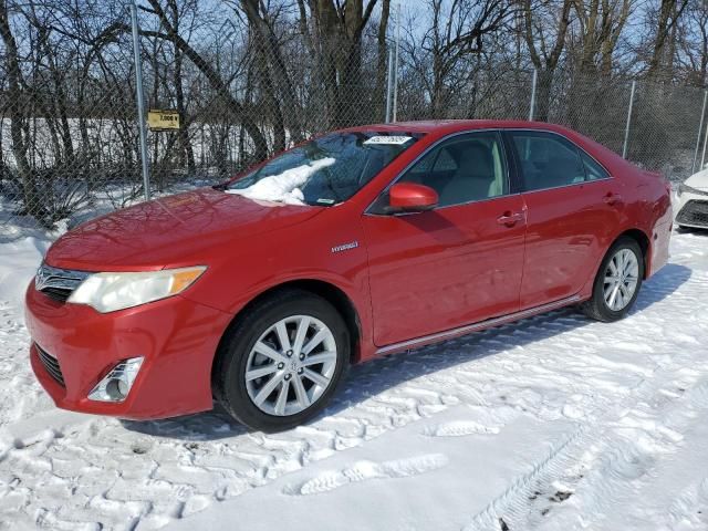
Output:
[[94,273],[76,288],[67,302],[88,304],[101,313],[115,312],[176,295],[206,269],[198,266],[140,273]]

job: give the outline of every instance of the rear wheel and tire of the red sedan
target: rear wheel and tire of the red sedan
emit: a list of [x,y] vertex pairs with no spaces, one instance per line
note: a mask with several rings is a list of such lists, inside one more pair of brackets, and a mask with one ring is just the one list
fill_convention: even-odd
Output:
[[605,323],[627,315],[635,304],[644,278],[644,253],[636,240],[621,237],[600,266],[592,298],[581,304],[585,315]]

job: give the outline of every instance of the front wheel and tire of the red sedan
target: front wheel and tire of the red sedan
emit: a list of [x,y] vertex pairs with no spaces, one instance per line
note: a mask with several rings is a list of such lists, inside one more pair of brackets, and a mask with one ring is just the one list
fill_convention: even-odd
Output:
[[344,320],[325,299],[287,290],[257,303],[226,334],[217,353],[217,399],[261,431],[292,428],[320,413],[350,360]]

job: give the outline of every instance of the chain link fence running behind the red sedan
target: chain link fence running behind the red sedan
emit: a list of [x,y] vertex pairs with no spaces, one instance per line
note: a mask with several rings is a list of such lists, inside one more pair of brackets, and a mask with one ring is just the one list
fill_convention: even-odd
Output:
[[179,128],[147,131],[143,154],[132,45],[125,32],[101,54],[86,51],[64,66],[28,58],[19,83],[0,67],[0,237],[142,200],[143,155],[149,192],[167,194],[223,180],[333,128],[384,122],[387,106],[397,121],[533,116],[563,124],[673,180],[702,160],[706,92],[695,87],[499,67],[436,84],[375,46],[364,46],[355,74],[342,79],[322,61],[336,61],[336,51],[313,60],[301,42],[283,48],[280,67],[250,48],[235,52],[229,65],[211,66],[226,80],[219,84],[169,41],[146,37],[137,65],[146,111],[176,112]]

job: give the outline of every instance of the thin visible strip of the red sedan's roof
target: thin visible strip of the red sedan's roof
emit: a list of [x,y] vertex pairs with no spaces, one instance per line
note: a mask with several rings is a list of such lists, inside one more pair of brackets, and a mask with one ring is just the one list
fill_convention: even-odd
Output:
[[544,129],[561,134],[569,133],[563,126],[546,122],[528,122],[519,119],[426,119],[419,122],[396,122],[393,124],[371,124],[351,127],[346,131],[378,131],[391,133],[435,133],[450,134],[475,129]]

